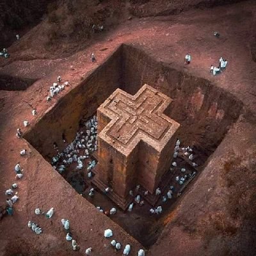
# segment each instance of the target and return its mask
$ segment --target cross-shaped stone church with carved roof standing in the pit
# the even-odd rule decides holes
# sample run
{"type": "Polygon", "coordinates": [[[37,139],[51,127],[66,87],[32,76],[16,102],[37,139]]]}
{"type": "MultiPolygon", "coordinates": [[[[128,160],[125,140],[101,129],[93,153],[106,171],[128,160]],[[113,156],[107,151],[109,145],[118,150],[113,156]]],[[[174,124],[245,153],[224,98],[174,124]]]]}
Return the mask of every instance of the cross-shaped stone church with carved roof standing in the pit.
{"type": "Polygon", "coordinates": [[[145,84],[117,89],[98,109],[97,179],[125,198],[137,184],[154,193],[170,167],[179,124],[164,115],[172,99],[145,84]]]}

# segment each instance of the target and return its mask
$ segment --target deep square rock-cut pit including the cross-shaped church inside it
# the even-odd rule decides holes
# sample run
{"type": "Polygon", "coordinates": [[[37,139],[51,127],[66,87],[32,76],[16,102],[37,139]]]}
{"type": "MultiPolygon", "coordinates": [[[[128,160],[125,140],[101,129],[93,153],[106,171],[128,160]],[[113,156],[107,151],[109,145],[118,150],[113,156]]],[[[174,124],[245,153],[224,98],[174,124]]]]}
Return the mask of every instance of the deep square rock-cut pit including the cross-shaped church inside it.
{"type": "Polygon", "coordinates": [[[122,45],[46,113],[24,138],[56,168],[52,172],[59,172],[85,200],[102,209],[149,248],[161,234],[164,220],[176,201],[182,200],[180,195],[187,184],[193,186],[193,179],[204,172],[207,160],[230,125],[236,122],[241,109],[239,100],[209,81],[164,67],[145,52],[122,45]],[[142,69],[147,72],[141,74],[142,69]],[[159,79],[164,81],[161,86],[156,83],[159,79]],[[95,121],[97,133],[86,134],[95,127],[91,126],[95,121]],[[94,136],[91,141],[90,136],[94,136]],[[88,158],[84,159],[81,170],[77,170],[74,161],[60,172],[62,160],[69,157],[58,156],[58,152],[63,152],[74,140],[74,149],[79,149],[77,157],[88,158]],[[81,140],[84,143],[79,148],[77,141],[81,140]],[[173,158],[177,140],[178,156],[173,158]],[[188,147],[191,152],[182,151],[188,147]],[[188,159],[191,154],[193,161],[188,159]],[[56,157],[60,161],[55,163],[56,157]],[[176,177],[186,178],[180,182],[176,177]],[[170,186],[174,187],[173,198],[163,202],[170,186]],[[92,188],[97,191],[93,197],[89,196],[92,188]],[[106,188],[111,189],[107,195],[106,188]],[[156,195],[157,188],[161,195],[156,195]],[[146,191],[148,195],[144,195],[146,191]],[[138,195],[144,202],[142,206],[134,202],[138,195]],[[131,204],[134,209],[129,212],[131,204]],[[159,205],[166,211],[150,214],[150,209],[159,205]],[[118,214],[107,213],[112,207],[116,207],[118,214]]]}

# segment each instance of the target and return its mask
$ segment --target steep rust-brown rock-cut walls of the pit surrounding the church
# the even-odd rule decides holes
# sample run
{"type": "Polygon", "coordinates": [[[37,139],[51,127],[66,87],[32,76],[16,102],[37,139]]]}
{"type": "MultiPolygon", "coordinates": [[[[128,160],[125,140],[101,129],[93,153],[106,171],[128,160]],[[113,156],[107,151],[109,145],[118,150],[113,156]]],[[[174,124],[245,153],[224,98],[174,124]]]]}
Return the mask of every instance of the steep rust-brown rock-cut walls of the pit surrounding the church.
{"type": "MultiPolygon", "coordinates": [[[[63,143],[63,136],[68,143],[73,141],[79,131],[80,121],[96,113],[100,104],[116,88],[134,94],[145,83],[173,99],[165,114],[181,124],[179,138],[182,145],[193,146],[198,155],[196,161],[200,164],[199,170],[202,170],[208,157],[236,122],[243,104],[209,81],[158,63],[145,52],[129,45],[121,45],[103,65],[62,97],[53,109],[24,134],[24,138],[51,163],[52,157],[56,155],[53,143],[58,144],[60,151],[63,150],[67,146],[63,143]]],[[[81,193],[84,175],[77,176],[77,190],[81,193]]],[[[190,186],[193,186],[191,183],[190,186]]],[[[83,186],[84,191],[87,188],[83,186]]],[[[86,195],[84,197],[92,204],[100,205],[103,209],[110,209],[114,205],[101,193],[96,193],[93,199],[86,195]]],[[[111,219],[148,248],[156,242],[164,225],[168,223],[168,215],[179,200],[173,202],[166,203],[165,211],[159,216],[151,216],[148,212],[150,205],[145,205],[127,213],[119,210],[111,219]]]]}

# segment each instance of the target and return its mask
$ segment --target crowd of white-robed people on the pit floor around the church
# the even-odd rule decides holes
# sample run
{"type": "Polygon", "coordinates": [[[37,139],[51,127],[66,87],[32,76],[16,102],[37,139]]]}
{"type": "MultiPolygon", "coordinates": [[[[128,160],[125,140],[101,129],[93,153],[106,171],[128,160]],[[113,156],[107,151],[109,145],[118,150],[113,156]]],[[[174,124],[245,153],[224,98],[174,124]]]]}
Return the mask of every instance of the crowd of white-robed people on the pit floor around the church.
{"type": "MultiPolygon", "coordinates": [[[[89,118],[86,120],[86,122],[83,123],[85,129],[82,131],[80,130],[76,134],[76,138],[72,143],[68,144],[67,147],[63,150],[63,152],[58,152],[58,154],[54,157],[52,157],[52,166],[54,169],[56,169],[58,172],[63,173],[67,166],[69,166],[72,163],[76,163],[76,169],[81,170],[84,168],[84,159],[88,159],[90,157],[90,154],[92,152],[97,150],[97,116],[92,116],[92,118],[89,118]]],[[[64,141],[65,142],[65,141],[64,141]]],[[[177,140],[176,147],[175,147],[175,152],[173,154],[173,158],[177,157],[178,151],[180,149],[180,141],[177,140]]],[[[58,145],[54,143],[54,148],[58,151],[58,145]]],[[[189,160],[193,160],[193,149],[191,147],[187,148],[182,148],[182,151],[184,151],[184,155],[188,156],[189,160]],[[189,154],[188,154],[189,152],[189,154]]],[[[175,163],[175,162],[173,162],[175,163]]],[[[194,166],[195,163],[193,163],[194,166]]],[[[87,172],[88,172],[88,177],[92,177],[92,169],[95,167],[96,162],[95,161],[89,161],[88,166],[87,166],[87,172]]],[[[196,166],[197,164],[195,164],[196,166]]],[[[176,164],[177,166],[177,164],[176,164]]],[[[183,176],[179,177],[179,185],[182,185],[185,180],[189,177],[189,173],[186,174],[186,169],[181,168],[183,176]]],[[[134,192],[131,190],[129,194],[131,196],[134,196],[134,202],[129,205],[128,211],[132,211],[134,207],[134,203],[138,204],[140,206],[144,205],[144,200],[141,199],[141,196],[139,195],[139,189],[140,185],[136,186],[136,196],[134,196],[134,192]]],[[[167,200],[170,200],[173,196],[173,190],[174,187],[170,186],[170,189],[168,189],[166,195],[162,196],[162,202],[166,202],[167,200]]],[[[108,194],[111,188],[106,188],[105,193],[108,194]]],[[[95,189],[91,188],[90,191],[88,192],[88,195],[90,198],[94,196],[95,189]]],[[[143,195],[147,196],[148,191],[143,191],[143,195]]],[[[157,188],[156,189],[156,196],[161,195],[161,189],[157,188]]],[[[103,211],[103,209],[100,206],[97,206],[97,209],[99,209],[100,212],[104,212],[106,215],[112,215],[116,213],[116,209],[112,208],[110,211],[103,211]]],[[[161,214],[163,212],[163,208],[161,205],[158,205],[156,209],[150,209],[150,214],[161,214]]]]}

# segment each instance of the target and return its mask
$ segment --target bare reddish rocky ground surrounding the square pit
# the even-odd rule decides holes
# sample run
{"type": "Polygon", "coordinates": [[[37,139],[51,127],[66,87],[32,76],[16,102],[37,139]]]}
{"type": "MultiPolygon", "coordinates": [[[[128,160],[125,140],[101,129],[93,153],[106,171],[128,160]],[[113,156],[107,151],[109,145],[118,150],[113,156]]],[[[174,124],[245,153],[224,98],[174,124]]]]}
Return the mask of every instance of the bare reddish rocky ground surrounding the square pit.
{"type": "Polygon", "coordinates": [[[56,54],[48,51],[44,22],[15,42],[9,48],[11,58],[0,60],[0,76],[37,81],[25,91],[0,93],[1,202],[6,200],[4,191],[15,181],[15,164],[20,162],[24,168],[24,177],[18,181],[20,199],[14,206],[14,214],[0,221],[0,255],[84,255],[88,247],[93,248],[92,255],[121,255],[104,238],[106,228],[113,230],[113,239],[123,246],[131,244],[131,255],[137,255],[143,248],[78,195],[26,140],[15,136],[17,127],[23,131],[32,129],[66,93],[76,88],[81,77],[91,74],[120,44],[138,47],[156,61],[204,78],[243,102],[236,123],[230,126],[200,176],[164,220],[163,232],[146,255],[256,255],[256,63],[252,47],[255,11],[255,1],[243,1],[178,15],[133,17],[102,33],[102,37],[98,34],[97,40],[78,52],[73,46],[74,54],[70,54],[72,47],[65,52],[67,44],[61,41],[60,51],[56,54]],[[220,31],[220,38],[213,36],[216,30],[220,31]],[[90,61],[92,52],[96,63],[90,61]],[[187,52],[192,61],[185,66],[187,52]],[[218,65],[220,56],[227,58],[228,67],[214,77],[209,67],[218,65]],[[49,86],[58,75],[71,85],[46,102],[49,86]],[[31,115],[32,107],[38,112],[35,117],[31,115]],[[30,127],[22,126],[24,120],[29,120],[30,127]],[[20,157],[22,148],[28,150],[28,156],[20,157]],[[56,212],[46,220],[35,215],[36,207],[44,211],[54,207],[56,212]],[[79,252],[73,252],[65,240],[61,218],[70,220],[72,234],[81,247],[79,252]],[[44,232],[36,235],[29,230],[29,220],[36,221],[44,232]]]}

